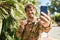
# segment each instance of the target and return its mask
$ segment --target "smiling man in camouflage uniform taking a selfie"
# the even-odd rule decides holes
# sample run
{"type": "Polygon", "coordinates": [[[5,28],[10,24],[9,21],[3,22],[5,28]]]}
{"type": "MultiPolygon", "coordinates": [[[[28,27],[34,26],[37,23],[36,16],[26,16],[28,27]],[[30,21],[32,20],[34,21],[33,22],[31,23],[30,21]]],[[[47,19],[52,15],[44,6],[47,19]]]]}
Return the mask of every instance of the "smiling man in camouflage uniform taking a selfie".
{"type": "Polygon", "coordinates": [[[22,20],[16,34],[21,40],[38,40],[40,33],[50,30],[50,13],[46,15],[42,12],[42,15],[36,18],[36,9],[32,4],[26,5],[25,12],[28,19],[22,20]]]}

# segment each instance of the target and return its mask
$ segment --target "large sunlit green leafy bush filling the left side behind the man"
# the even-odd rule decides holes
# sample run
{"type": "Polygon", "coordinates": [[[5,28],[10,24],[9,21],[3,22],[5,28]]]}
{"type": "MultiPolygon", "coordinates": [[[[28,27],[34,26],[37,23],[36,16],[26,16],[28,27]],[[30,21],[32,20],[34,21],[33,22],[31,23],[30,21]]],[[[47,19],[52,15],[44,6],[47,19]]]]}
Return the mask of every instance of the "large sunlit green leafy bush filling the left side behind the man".
{"type": "Polygon", "coordinates": [[[20,20],[27,18],[24,7],[28,3],[38,4],[37,0],[0,0],[0,40],[20,39],[16,31],[20,20]]]}

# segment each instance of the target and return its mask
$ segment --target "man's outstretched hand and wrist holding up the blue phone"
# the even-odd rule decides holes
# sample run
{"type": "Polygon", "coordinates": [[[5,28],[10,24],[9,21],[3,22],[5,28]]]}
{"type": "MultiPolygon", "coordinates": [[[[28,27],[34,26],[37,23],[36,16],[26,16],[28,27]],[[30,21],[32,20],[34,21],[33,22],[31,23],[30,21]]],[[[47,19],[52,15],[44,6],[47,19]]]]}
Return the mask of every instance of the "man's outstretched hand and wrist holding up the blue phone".
{"type": "Polygon", "coordinates": [[[44,32],[49,32],[50,28],[50,22],[51,22],[51,18],[50,18],[50,12],[48,11],[48,14],[46,15],[45,13],[41,13],[42,15],[40,15],[40,21],[39,23],[42,25],[43,31],[44,32]]]}

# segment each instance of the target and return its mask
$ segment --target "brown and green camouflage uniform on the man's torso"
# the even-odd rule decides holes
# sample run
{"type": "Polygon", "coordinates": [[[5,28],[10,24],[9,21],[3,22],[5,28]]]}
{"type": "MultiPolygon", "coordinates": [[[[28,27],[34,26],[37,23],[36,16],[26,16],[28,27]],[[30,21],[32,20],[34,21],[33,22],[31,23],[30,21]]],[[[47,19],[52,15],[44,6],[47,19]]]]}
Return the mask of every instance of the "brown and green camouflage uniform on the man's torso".
{"type": "Polygon", "coordinates": [[[31,23],[27,21],[24,30],[22,28],[19,29],[21,40],[38,40],[42,31],[43,27],[37,20],[31,23]]]}

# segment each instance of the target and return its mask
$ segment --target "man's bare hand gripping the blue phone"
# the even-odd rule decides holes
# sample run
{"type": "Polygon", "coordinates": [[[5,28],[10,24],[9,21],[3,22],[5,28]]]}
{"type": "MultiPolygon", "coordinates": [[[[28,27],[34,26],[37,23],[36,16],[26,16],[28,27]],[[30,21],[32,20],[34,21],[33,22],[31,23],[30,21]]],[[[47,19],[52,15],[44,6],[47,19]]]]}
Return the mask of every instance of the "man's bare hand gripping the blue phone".
{"type": "Polygon", "coordinates": [[[51,21],[50,12],[48,11],[47,15],[45,13],[43,13],[43,12],[41,14],[42,15],[40,16],[40,24],[43,27],[48,27],[50,25],[50,21],[51,21]]]}

